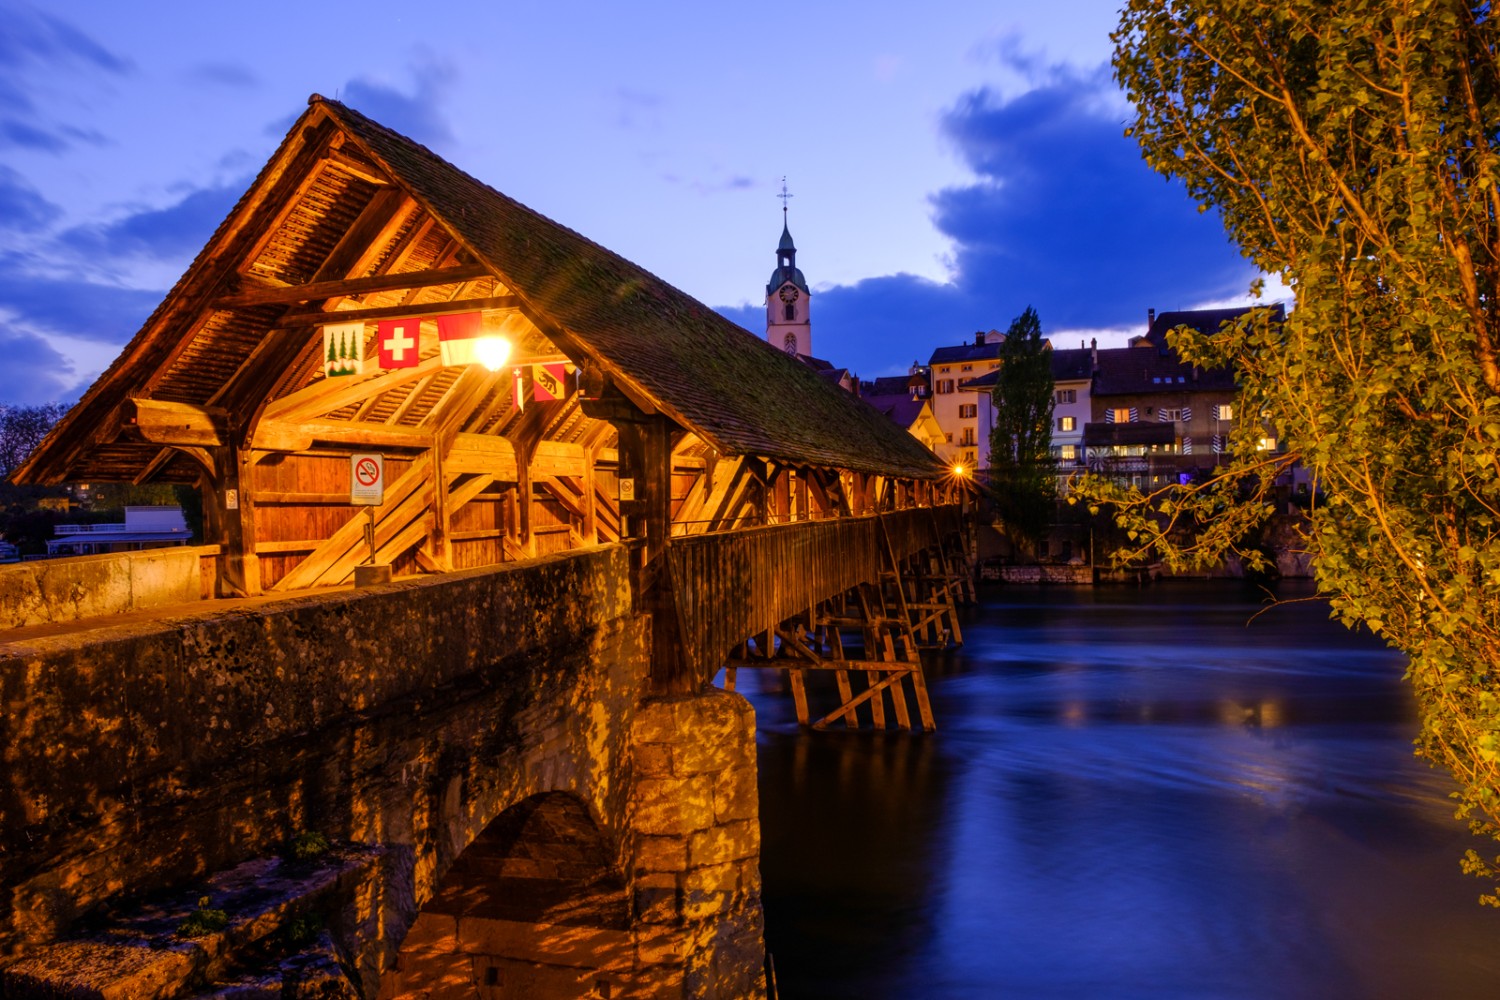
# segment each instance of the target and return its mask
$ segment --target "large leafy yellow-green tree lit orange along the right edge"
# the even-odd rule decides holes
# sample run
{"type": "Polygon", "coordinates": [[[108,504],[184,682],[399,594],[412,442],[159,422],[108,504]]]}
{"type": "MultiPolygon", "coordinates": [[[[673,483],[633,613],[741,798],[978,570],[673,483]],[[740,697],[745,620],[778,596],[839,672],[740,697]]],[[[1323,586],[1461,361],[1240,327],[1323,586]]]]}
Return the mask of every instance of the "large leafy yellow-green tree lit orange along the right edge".
{"type": "MultiPolygon", "coordinates": [[[[1326,502],[1306,544],[1320,588],[1346,624],[1407,652],[1418,751],[1458,780],[1460,816],[1500,835],[1491,4],[1128,0],[1120,18],[1114,70],[1146,160],[1296,295],[1284,324],[1258,310],[1216,334],[1178,331],[1173,345],[1234,364],[1239,412],[1263,414],[1317,477],[1326,502]]],[[[1208,493],[1161,493],[1154,511],[1122,519],[1143,543],[1215,502],[1252,522],[1263,504],[1234,493],[1278,466],[1257,456],[1257,435],[1254,420],[1236,427],[1236,463],[1208,493]]],[[[1500,877],[1500,859],[1470,852],[1466,867],[1500,877]]]]}

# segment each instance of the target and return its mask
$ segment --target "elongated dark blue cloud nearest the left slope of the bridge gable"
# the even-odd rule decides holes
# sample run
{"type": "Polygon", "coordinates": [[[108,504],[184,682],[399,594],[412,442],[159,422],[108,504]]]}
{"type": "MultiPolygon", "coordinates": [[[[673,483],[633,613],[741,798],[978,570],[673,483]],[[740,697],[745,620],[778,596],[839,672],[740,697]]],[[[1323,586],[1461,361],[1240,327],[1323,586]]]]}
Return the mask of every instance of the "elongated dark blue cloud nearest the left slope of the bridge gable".
{"type": "Polygon", "coordinates": [[[190,258],[230,214],[249,180],[201,187],[165,208],[141,208],[108,223],[88,223],[57,237],[62,246],[96,258],[190,258]]]}

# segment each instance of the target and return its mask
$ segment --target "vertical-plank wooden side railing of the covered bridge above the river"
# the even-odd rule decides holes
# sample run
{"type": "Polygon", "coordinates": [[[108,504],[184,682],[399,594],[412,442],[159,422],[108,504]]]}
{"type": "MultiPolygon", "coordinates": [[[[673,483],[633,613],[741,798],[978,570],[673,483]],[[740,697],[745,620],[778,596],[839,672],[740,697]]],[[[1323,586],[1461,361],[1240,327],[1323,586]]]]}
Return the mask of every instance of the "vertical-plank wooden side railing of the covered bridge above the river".
{"type": "Polygon", "coordinates": [[[921,507],[672,538],[666,556],[690,670],[711,678],[736,643],[879,580],[886,558],[930,549],[958,523],[957,505],[921,507]]]}

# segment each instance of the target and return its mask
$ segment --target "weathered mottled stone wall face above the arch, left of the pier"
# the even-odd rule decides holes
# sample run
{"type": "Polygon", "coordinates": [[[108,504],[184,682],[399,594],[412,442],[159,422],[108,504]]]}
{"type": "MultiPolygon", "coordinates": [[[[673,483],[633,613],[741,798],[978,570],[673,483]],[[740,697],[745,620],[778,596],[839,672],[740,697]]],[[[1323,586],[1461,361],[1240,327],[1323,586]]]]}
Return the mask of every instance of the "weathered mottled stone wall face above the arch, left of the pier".
{"type": "Polygon", "coordinates": [[[88,634],[0,640],[0,964],[120,895],[314,829],[381,844],[351,957],[380,969],[508,805],[578,796],[624,840],[648,667],[627,553],[88,634]]]}

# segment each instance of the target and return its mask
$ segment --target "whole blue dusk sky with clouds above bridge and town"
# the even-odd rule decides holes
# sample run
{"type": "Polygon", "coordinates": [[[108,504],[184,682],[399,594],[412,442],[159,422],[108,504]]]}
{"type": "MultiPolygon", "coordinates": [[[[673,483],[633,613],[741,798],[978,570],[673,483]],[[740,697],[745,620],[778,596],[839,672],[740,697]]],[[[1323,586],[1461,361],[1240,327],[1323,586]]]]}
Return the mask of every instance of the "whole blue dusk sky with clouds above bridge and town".
{"type": "Polygon", "coordinates": [[[862,378],[1000,328],[1118,345],[1245,301],[1124,138],[1118,0],[0,0],[0,403],[72,402],[310,93],[756,333],[792,192],[813,352],[862,378]]]}

